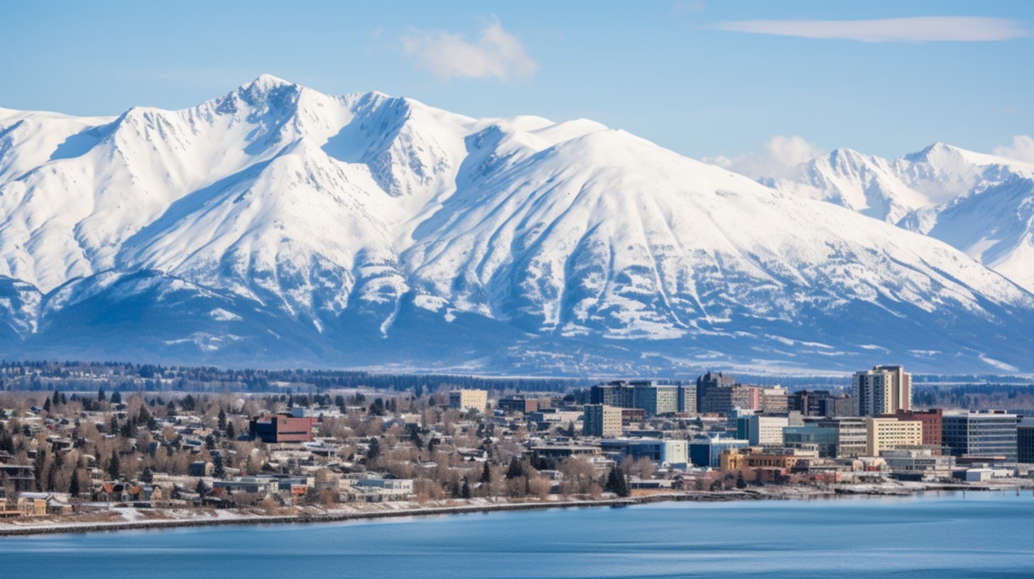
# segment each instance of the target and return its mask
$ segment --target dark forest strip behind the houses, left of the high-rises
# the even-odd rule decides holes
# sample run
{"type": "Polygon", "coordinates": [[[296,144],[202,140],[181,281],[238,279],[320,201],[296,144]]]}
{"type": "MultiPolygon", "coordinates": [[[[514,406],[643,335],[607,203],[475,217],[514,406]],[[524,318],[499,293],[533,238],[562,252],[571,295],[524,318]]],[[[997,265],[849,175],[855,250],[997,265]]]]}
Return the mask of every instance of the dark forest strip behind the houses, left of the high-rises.
{"type": "Polygon", "coordinates": [[[226,369],[122,362],[0,361],[0,390],[122,392],[324,392],[368,388],[413,392],[417,396],[455,388],[496,393],[564,392],[584,380],[568,378],[491,378],[451,374],[382,374],[308,369],[226,369]]]}

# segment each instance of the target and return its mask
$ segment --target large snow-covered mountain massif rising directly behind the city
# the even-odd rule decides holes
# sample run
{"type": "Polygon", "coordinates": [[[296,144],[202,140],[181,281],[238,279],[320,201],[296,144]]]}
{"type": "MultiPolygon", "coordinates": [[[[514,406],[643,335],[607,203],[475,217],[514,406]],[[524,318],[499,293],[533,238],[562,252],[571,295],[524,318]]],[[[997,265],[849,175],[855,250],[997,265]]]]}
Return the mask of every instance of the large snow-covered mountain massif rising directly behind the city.
{"type": "MultiPolygon", "coordinates": [[[[909,190],[888,211],[939,194],[909,190]]],[[[587,120],[272,77],[175,112],[0,110],[0,306],[8,357],[1034,369],[1034,296],[931,237],[587,120]]]]}

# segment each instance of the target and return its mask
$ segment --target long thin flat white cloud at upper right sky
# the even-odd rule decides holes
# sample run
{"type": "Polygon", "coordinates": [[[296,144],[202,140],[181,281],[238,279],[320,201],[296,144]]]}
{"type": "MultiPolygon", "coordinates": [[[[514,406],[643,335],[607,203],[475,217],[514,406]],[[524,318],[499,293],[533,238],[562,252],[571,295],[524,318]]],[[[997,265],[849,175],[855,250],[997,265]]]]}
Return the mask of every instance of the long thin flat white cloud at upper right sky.
{"type": "Polygon", "coordinates": [[[751,20],[719,22],[719,30],[860,40],[862,42],[993,41],[1031,36],[1026,23],[986,17],[914,17],[882,20],[751,20]]]}

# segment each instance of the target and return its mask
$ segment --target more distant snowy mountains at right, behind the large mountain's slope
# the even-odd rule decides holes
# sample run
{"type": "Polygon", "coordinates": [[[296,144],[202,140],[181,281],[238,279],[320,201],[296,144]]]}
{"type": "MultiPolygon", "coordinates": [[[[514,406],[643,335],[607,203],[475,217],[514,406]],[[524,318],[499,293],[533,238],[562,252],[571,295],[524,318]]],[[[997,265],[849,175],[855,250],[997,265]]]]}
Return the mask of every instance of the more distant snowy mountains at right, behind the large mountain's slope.
{"type": "Polygon", "coordinates": [[[1034,292],[1034,164],[942,143],[893,160],[838,149],[762,182],[940,239],[1034,292]]]}

